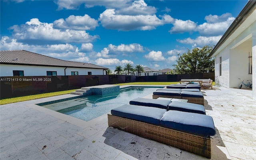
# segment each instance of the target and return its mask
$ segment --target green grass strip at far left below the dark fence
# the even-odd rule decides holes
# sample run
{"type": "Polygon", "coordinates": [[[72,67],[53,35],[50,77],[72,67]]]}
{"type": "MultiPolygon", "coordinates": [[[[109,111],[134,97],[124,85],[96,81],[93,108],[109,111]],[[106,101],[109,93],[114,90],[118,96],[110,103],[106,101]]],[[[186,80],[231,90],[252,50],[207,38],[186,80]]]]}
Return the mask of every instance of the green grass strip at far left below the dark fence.
{"type": "Polygon", "coordinates": [[[42,94],[35,94],[35,95],[30,95],[30,96],[6,98],[6,99],[0,100],[0,105],[15,103],[15,102],[22,102],[22,101],[26,101],[26,100],[35,100],[35,99],[39,99],[39,98],[46,98],[46,97],[52,97],[52,96],[59,96],[62,94],[70,94],[70,92],[74,92],[74,91],[75,90],[64,90],[64,91],[59,91],[59,92],[42,93],[42,94]]]}

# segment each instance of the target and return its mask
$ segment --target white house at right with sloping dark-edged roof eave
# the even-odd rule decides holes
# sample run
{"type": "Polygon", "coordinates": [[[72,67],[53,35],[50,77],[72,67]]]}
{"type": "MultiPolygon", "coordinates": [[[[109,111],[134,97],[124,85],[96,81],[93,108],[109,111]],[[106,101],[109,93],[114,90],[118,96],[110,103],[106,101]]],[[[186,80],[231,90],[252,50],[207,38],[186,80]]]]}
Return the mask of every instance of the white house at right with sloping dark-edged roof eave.
{"type": "Polygon", "coordinates": [[[252,81],[256,100],[256,1],[249,0],[210,53],[215,58],[215,82],[238,88],[252,81]]]}

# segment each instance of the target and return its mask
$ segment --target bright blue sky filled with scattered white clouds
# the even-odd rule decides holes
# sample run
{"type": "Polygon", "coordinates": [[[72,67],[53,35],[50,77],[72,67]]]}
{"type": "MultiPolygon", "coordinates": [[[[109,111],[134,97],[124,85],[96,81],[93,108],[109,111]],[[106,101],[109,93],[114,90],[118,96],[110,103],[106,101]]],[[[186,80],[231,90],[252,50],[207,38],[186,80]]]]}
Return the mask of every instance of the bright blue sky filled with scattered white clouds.
{"type": "Polygon", "coordinates": [[[1,0],[0,49],[108,67],[173,68],[216,45],[247,0],[1,0]]]}

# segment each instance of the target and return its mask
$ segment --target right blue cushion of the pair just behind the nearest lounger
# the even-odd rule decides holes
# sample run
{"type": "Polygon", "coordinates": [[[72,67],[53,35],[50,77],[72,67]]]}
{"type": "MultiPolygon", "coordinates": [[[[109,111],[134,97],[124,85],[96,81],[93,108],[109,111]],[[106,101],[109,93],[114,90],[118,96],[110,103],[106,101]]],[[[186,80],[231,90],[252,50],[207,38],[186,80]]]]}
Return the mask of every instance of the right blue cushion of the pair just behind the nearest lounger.
{"type": "Polygon", "coordinates": [[[179,102],[179,101],[171,102],[168,105],[168,110],[179,110],[179,111],[183,111],[183,112],[206,114],[203,105],[187,103],[187,102],[179,102]]]}

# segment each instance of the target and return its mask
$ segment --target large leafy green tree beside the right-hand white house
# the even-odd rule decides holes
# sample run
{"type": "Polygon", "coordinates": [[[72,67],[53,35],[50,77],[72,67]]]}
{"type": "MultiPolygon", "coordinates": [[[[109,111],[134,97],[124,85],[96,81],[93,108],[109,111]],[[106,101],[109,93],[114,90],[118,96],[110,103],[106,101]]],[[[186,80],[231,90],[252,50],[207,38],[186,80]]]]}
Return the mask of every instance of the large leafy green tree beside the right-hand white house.
{"type": "Polygon", "coordinates": [[[178,54],[177,64],[174,64],[176,74],[206,73],[214,71],[214,59],[209,57],[213,46],[203,46],[178,54]]]}

